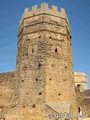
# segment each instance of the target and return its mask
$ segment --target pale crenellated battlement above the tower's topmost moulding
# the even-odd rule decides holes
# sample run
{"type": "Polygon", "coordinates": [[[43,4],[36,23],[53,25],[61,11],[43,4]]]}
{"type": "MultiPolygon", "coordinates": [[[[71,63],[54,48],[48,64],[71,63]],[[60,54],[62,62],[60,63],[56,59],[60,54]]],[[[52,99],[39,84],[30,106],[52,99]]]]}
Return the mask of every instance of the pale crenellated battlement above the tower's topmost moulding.
{"type": "Polygon", "coordinates": [[[58,7],[54,6],[54,5],[52,5],[51,8],[49,8],[47,3],[41,3],[40,7],[38,7],[37,5],[34,5],[34,6],[32,6],[31,10],[29,8],[26,8],[24,10],[22,18],[20,20],[20,25],[21,25],[24,18],[37,16],[39,14],[49,14],[52,16],[64,18],[68,21],[66,12],[63,8],[58,10],[58,7]]]}

